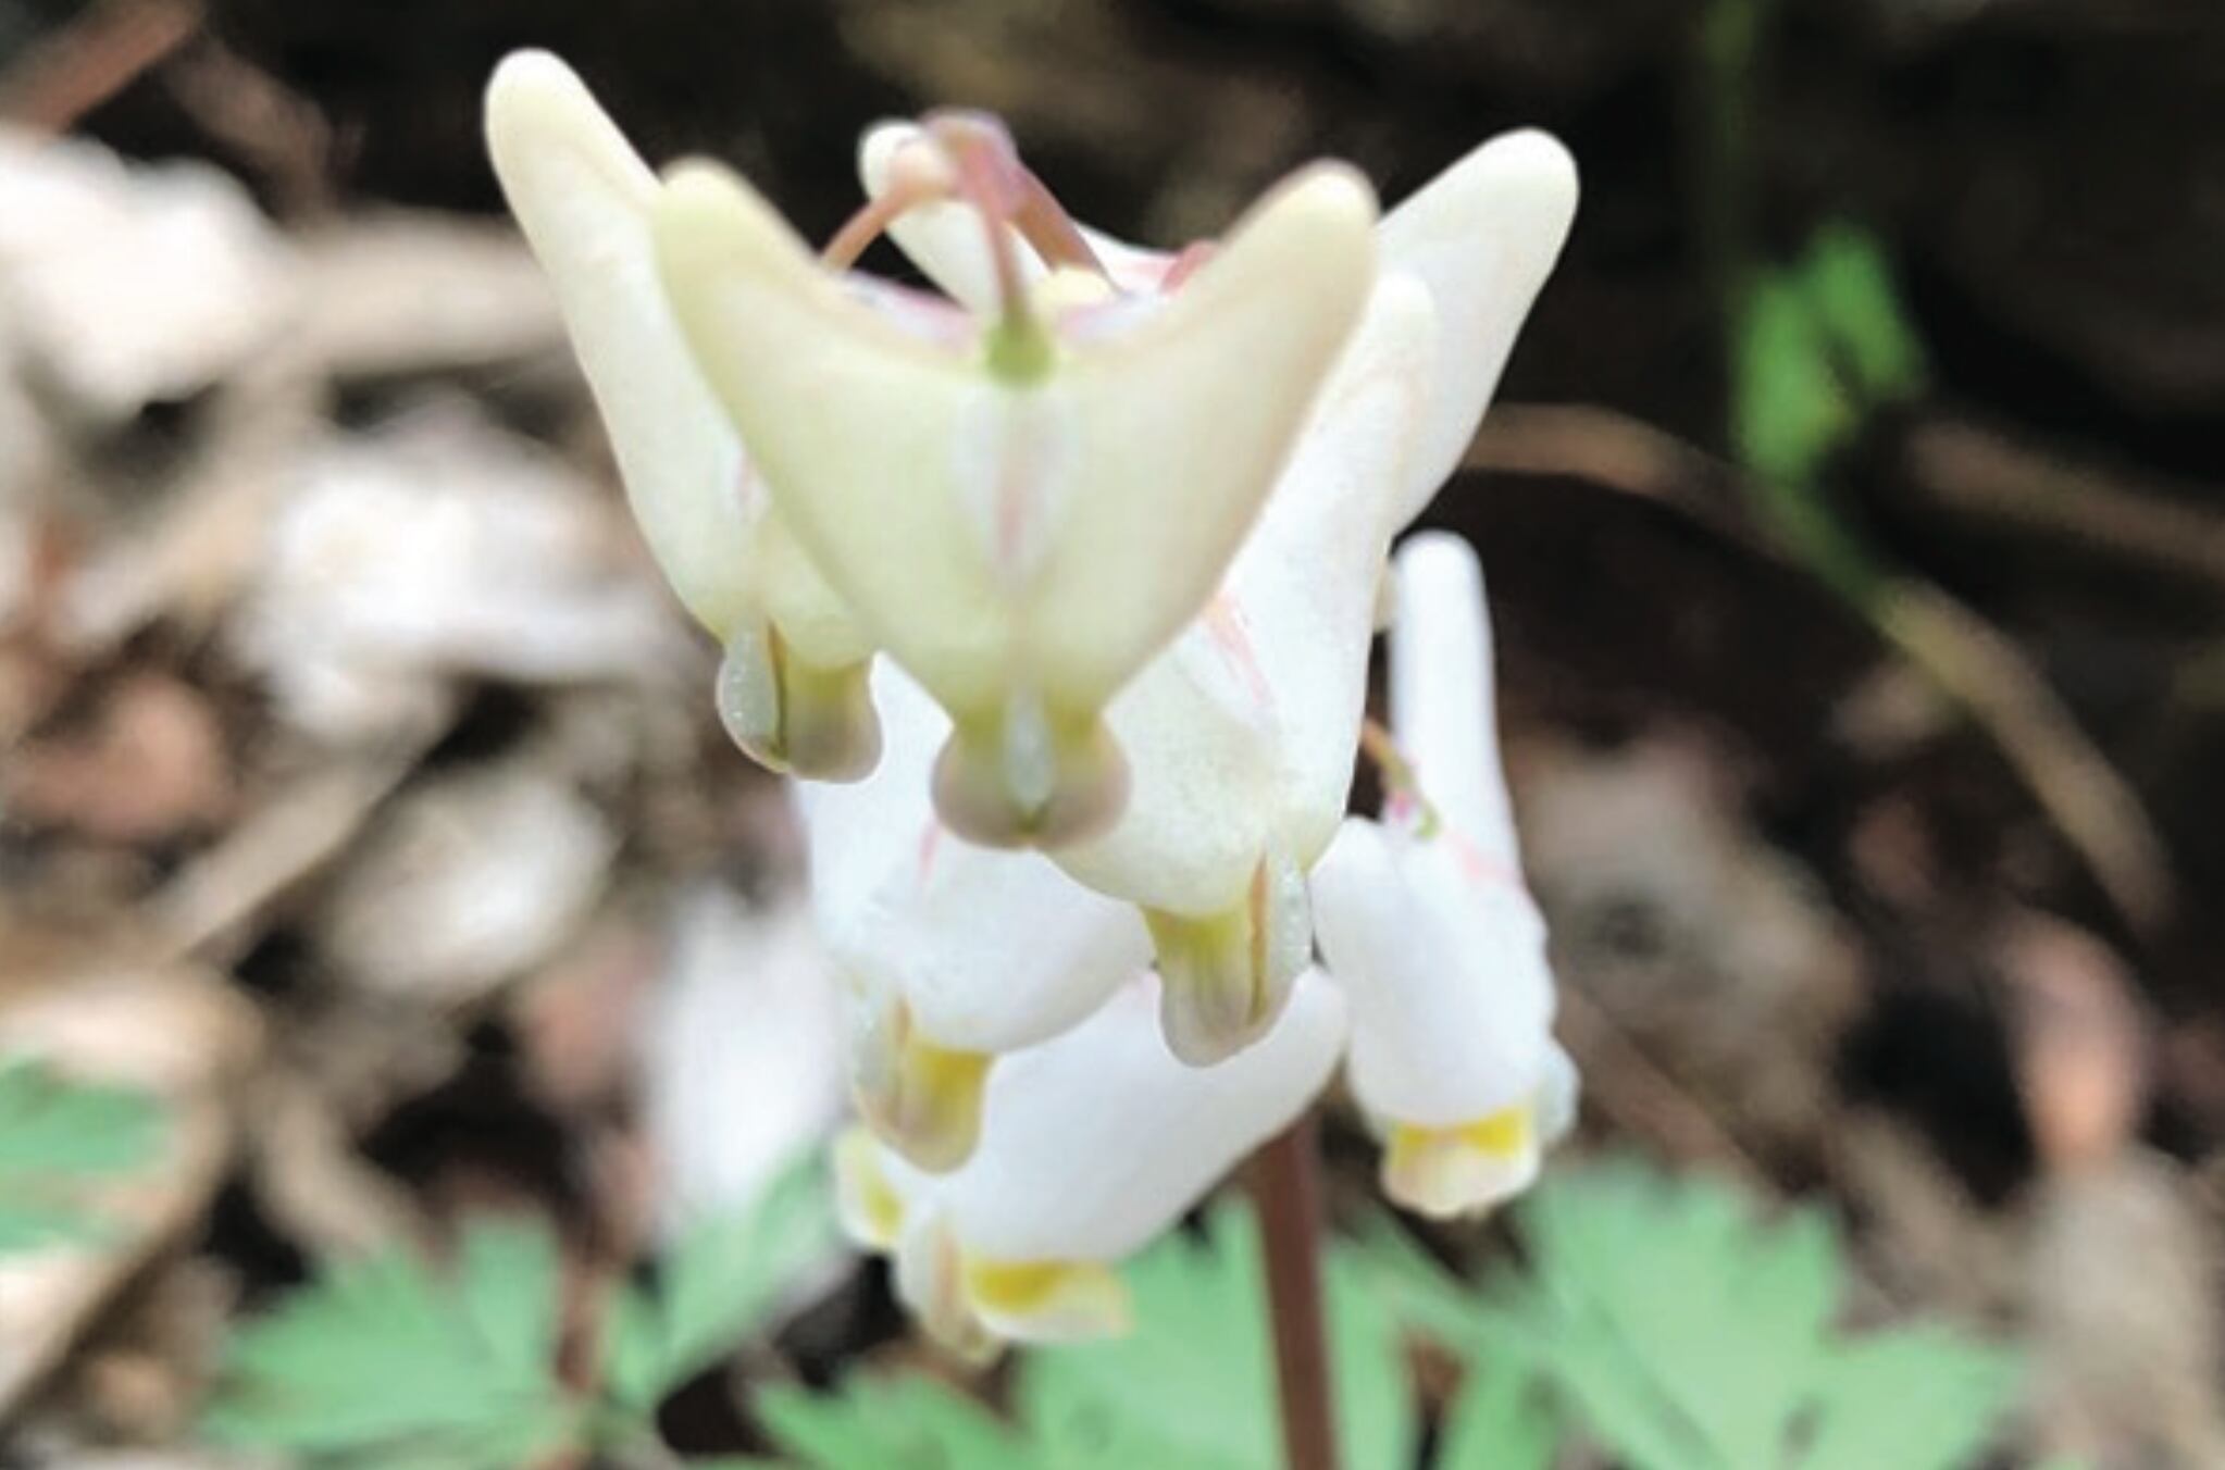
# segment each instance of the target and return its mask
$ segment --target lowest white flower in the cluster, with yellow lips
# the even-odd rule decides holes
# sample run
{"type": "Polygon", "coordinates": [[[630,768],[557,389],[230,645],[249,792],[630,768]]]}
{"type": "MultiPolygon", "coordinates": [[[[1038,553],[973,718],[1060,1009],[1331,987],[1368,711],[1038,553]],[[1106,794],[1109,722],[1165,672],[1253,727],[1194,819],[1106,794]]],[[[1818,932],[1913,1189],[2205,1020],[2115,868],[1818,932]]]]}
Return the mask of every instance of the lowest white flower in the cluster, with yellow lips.
{"type": "Polygon", "coordinates": [[[839,1145],[843,1223],[894,1257],[897,1294],[941,1341],[986,1354],[1121,1330],[1112,1263],[1288,1125],[1344,1045],[1344,1005],[1308,974],[1257,1045],[1190,1067],[1159,1036],[1153,990],[1144,976],[1006,1059],[981,1145],[952,1174],[921,1174],[866,1134],[839,1145]]]}

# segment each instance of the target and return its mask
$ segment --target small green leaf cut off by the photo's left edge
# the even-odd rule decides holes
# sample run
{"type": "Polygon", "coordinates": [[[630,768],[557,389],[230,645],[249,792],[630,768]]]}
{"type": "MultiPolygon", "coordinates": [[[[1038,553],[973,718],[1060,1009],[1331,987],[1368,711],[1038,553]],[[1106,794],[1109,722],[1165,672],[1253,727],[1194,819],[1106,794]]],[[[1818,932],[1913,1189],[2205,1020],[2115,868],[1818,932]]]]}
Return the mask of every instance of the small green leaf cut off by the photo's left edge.
{"type": "Polygon", "coordinates": [[[87,1185],[149,1165],[162,1148],[151,1096],[0,1061],[0,1254],[100,1236],[87,1185]]]}

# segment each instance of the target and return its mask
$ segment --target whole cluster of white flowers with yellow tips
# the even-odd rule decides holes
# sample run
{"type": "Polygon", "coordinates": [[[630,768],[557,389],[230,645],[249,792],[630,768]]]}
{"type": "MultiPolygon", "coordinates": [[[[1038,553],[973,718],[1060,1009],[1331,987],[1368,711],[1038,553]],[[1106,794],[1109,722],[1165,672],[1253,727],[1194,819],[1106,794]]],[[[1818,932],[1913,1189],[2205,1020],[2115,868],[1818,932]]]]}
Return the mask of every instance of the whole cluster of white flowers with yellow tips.
{"type": "Polygon", "coordinates": [[[1115,1328],[1110,1263],[1339,1061],[1393,1199],[1522,1190],[1575,1079],[1482,578],[1451,536],[1388,554],[1569,231],[1566,151],[1497,138],[1382,220],[1315,165],[1155,254],[934,113],[866,136],[814,254],[725,169],[652,173],[545,53],[487,133],[725,725],[799,778],[870,1125],[846,1216],[919,1317],[1115,1328]],[[879,234],[946,296],[848,269],[879,234]],[[1386,805],[1346,821],[1386,605],[1386,805]]]}

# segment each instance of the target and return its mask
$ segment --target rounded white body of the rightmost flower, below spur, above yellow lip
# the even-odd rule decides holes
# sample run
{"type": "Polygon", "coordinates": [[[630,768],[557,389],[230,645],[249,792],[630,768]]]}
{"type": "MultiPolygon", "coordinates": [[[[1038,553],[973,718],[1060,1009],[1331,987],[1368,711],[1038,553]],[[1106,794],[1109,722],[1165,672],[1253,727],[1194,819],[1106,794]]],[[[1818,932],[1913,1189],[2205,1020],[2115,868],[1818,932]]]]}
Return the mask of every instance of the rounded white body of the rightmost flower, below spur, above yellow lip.
{"type": "Polygon", "coordinates": [[[1451,830],[1424,841],[1353,818],[1313,870],[1313,923],[1351,1005],[1364,1108],[1455,1128],[1537,1092],[1553,974],[1517,874],[1451,830]]]}

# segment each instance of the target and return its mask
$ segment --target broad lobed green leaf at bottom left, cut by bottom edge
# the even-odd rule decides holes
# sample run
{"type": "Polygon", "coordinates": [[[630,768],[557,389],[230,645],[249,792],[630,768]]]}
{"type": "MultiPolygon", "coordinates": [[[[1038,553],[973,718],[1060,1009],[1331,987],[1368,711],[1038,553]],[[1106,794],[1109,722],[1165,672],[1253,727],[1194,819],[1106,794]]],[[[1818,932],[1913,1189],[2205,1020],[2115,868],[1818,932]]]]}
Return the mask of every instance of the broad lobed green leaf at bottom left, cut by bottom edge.
{"type": "Polygon", "coordinates": [[[243,1328],[202,1430],[327,1470],[514,1470],[578,1441],[556,1381],[556,1245],[476,1221],[452,1272],[403,1250],[325,1270],[243,1328]]]}

